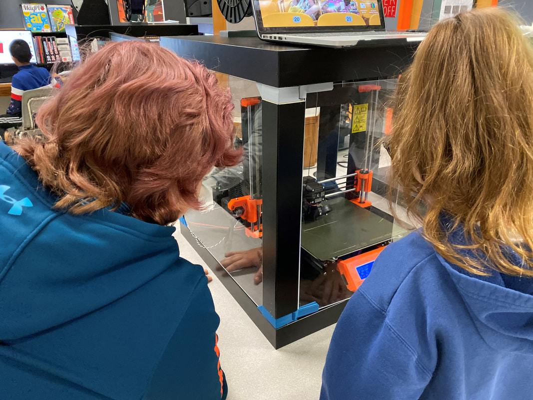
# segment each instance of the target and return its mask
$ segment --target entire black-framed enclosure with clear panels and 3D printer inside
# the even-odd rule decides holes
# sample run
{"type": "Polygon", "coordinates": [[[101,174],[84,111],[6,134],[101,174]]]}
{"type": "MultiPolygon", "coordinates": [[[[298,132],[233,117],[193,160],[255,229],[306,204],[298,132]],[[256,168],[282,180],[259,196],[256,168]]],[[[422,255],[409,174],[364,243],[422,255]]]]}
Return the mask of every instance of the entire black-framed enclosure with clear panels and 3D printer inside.
{"type": "Polygon", "coordinates": [[[335,323],[376,253],[405,234],[385,200],[390,158],[379,139],[390,77],[417,44],[162,37],[161,46],[203,60],[229,87],[246,155],[205,179],[205,207],[185,214],[183,236],[274,347],[335,323]],[[250,98],[261,100],[241,104],[250,98]]]}

